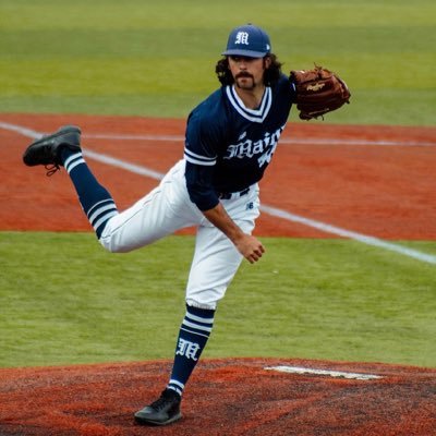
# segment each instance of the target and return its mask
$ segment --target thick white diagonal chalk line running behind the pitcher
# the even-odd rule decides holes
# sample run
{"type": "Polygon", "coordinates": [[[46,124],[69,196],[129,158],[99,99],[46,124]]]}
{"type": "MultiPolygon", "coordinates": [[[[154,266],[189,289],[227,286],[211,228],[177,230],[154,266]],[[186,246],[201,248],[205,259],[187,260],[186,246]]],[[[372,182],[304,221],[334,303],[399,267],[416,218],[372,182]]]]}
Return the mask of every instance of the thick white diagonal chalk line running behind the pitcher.
{"type": "MultiPolygon", "coordinates": [[[[20,135],[31,137],[33,140],[40,137],[43,134],[41,132],[36,132],[32,129],[27,129],[24,126],[7,123],[7,122],[2,122],[2,121],[0,121],[0,129],[12,131],[12,132],[19,133],[20,135]]],[[[118,158],[114,158],[114,157],[111,157],[111,156],[108,156],[108,155],[105,155],[101,153],[96,153],[88,148],[83,148],[83,153],[86,157],[88,157],[90,159],[94,159],[101,164],[110,165],[110,166],[130,171],[135,174],[149,177],[155,180],[161,180],[164,177],[164,173],[155,171],[147,167],[131,164],[131,162],[128,162],[128,161],[124,161],[124,160],[121,160],[121,159],[118,159],[118,158]]],[[[289,211],[279,209],[274,206],[263,205],[263,206],[261,206],[261,209],[263,213],[274,216],[276,218],[284,219],[284,220],[292,221],[292,222],[298,222],[298,223],[317,229],[324,233],[329,233],[329,234],[335,234],[337,237],[351,239],[351,240],[361,242],[366,245],[388,250],[388,251],[391,251],[397,254],[402,254],[404,256],[412,257],[420,262],[436,265],[436,255],[423,253],[417,250],[409,249],[409,247],[405,247],[405,246],[402,246],[399,244],[395,244],[391,242],[386,242],[386,241],[380,240],[375,237],[346,230],[340,227],[331,226],[331,225],[328,225],[328,223],[325,223],[322,221],[317,221],[317,220],[314,220],[311,218],[305,218],[300,215],[291,214],[289,211]]]]}

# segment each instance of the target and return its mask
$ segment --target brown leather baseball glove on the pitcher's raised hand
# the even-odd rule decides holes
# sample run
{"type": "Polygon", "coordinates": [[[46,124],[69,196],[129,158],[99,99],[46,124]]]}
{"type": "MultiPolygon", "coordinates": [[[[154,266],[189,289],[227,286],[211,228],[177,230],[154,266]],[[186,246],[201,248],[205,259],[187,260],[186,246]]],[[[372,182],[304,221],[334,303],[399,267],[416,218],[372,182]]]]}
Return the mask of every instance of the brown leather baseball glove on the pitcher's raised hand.
{"type": "Polygon", "coordinates": [[[290,80],[295,84],[296,109],[302,120],[323,117],[350,102],[346,82],[323,66],[291,71],[290,80]]]}

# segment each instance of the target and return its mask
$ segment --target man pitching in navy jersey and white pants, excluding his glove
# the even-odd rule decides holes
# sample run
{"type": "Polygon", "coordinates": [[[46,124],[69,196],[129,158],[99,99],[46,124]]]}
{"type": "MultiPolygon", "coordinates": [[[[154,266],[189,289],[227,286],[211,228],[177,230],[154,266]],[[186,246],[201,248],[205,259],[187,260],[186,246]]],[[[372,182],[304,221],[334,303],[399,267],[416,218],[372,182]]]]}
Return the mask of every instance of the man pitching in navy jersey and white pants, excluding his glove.
{"type": "Polygon", "coordinates": [[[25,150],[27,166],[64,167],[101,245],[121,253],[196,226],[195,253],[186,284],[186,312],[172,372],[160,398],[137,411],[140,424],[179,420],[186,383],[213,330],[218,302],[241,261],[264,254],[252,235],[259,215],[263,178],[287,123],[295,85],[281,73],[268,35],[255,25],[234,28],[216,65],[221,86],[189,116],[184,158],[160,184],[124,211],[89,170],[81,130],[61,128],[25,150]]]}

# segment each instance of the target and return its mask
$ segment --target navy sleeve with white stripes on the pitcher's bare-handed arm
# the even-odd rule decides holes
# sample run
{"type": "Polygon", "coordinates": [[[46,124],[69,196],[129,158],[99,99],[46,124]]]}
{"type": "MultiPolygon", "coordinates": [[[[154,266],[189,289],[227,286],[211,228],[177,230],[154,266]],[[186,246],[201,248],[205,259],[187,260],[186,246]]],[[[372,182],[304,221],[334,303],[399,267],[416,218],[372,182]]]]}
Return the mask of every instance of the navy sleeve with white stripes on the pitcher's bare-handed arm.
{"type": "Polygon", "coordinates": [[[195,111],[191,113],[184,147],[185,179],[190,198],[201,210],[211,209],[219,203],[214,189],[219,143],[219,129],[214,120],[195,111]]]}

